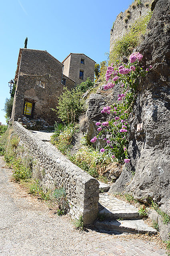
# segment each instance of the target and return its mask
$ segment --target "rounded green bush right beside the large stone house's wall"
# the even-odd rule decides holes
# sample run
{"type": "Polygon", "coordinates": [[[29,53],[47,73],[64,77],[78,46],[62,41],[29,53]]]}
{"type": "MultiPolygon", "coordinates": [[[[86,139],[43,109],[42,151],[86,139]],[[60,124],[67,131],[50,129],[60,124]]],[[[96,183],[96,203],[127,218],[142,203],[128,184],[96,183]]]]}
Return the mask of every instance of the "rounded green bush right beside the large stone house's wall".
{"type": "Polygon", "coordinates": [[[64,92],[60,95],[58,106],[52,109],[56,115],[65,123],[75,123],[78,121],[80,114],[84,112],[84,100],[82,91],[73,88],[71,91],[64,87],[64,92]],[[56,110],[57,109],[57,110],[56,110]]]}

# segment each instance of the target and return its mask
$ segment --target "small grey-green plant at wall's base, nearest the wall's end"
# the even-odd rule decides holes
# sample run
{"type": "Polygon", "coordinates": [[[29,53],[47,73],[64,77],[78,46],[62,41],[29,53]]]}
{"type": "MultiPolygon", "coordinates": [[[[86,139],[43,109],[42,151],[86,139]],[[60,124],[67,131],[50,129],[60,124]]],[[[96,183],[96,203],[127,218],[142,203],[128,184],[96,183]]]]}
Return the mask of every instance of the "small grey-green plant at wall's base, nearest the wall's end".
{"type": "Polygon", "coordinates": [[[68,211],[68,201],[66,199],[66,191],[63,187],[54,190],[54,200],[56,200],[58,209],[57,214],[64,215],[68,211]]]}

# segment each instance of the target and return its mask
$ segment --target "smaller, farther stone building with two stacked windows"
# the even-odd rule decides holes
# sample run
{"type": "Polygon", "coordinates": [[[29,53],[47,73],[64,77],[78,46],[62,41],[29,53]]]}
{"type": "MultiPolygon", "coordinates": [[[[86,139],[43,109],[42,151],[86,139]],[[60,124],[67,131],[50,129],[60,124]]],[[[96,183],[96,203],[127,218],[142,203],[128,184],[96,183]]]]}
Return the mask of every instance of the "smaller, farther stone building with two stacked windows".
{"type": "Polygon", "coordinates": [[[76,85],[90,77],[94,81],[95,61],[82,53],[70,53],[62,62],[64,64],[63,74],[73,79],[76,85]]]}

